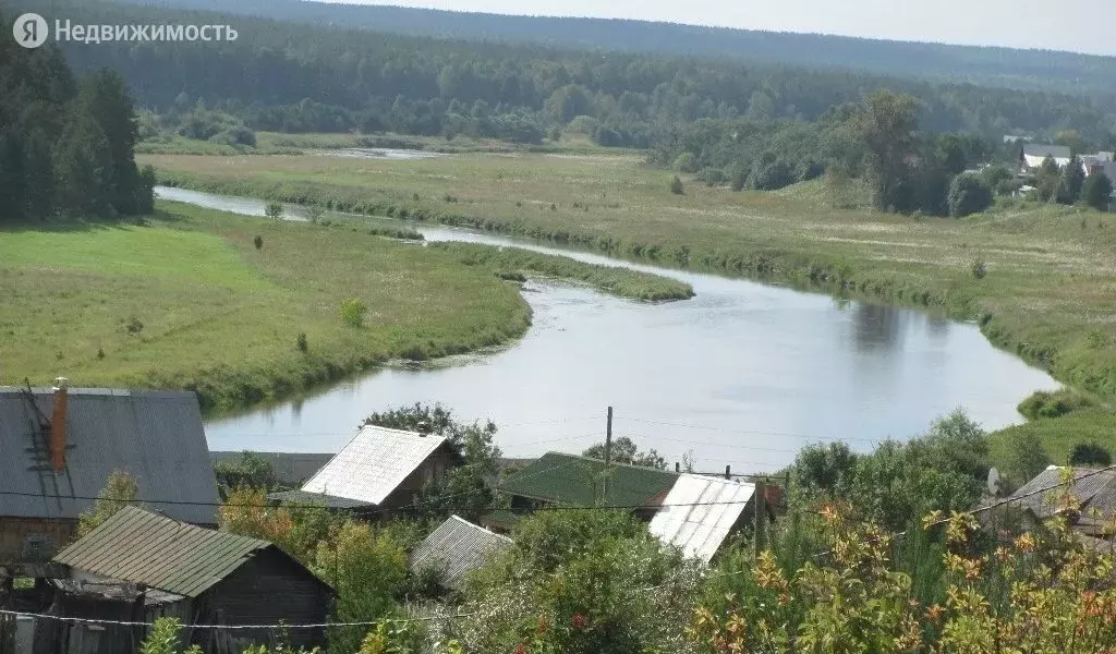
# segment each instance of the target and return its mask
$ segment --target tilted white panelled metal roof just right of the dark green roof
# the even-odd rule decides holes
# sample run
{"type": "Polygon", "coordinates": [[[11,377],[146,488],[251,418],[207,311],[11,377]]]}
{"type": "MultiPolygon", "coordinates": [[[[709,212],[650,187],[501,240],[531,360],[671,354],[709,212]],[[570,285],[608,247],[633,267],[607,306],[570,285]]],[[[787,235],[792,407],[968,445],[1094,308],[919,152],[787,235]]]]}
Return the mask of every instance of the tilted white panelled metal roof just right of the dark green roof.
{"type": "Polygon", "coordinates": [[[663,542],[682,549],[686,557],[709,562],[754,492],[751,483],[683,474],[666,493],[648,529],[663,542]]]}

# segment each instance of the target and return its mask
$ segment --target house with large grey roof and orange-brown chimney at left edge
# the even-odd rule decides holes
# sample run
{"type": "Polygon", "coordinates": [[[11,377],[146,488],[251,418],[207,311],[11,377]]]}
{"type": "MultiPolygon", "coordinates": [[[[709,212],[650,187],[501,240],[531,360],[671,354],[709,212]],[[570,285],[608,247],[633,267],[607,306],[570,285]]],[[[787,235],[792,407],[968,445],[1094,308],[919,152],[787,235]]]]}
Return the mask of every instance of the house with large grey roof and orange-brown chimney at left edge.
{"type": "Polygon", "coordinates": [[[0,568],[35,566],[73,539],[108,477],[127,471],[146,506],[215,526],[220,502],[193,393],[0,387],[0,568]]]}

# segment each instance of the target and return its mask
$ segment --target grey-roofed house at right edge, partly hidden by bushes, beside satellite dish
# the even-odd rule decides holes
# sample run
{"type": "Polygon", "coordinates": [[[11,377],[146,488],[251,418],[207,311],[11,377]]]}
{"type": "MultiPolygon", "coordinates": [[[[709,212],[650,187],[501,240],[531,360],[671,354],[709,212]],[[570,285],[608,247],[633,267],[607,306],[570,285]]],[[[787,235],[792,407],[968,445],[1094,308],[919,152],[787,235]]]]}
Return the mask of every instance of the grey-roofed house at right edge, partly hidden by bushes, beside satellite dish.
{"type": "Polygon", "coordinates": [[[1116,518],[1116,470],[1075,468],[1069,484],[1065,483],[1066,474],[1066,468],[1051,465],[1008,500],[1021,510],[1027,528],[1060,517],[1069,520],[1072,530],[1083,539],[1104,537],[1106,526],[1116,518]],[[1039,492],[1042,489],[1052,490],[1039,492]],[[1060,501],[1067,496],[1076,501],[1075,510],[1067,510],[1060,501]]]}

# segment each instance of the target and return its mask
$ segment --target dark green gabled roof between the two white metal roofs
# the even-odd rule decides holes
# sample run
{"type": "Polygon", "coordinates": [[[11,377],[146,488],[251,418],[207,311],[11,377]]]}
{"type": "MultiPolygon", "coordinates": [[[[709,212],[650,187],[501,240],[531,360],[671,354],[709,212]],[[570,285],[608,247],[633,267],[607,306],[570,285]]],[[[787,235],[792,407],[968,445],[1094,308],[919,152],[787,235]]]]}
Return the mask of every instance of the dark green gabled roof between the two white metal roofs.
{"type": "Polygon", "coordinates": [[[506,493],[547,502],[591,507],[597,503],[623,507],[656,507],[675,480],[676,472],[613,463],[605,488],[605,462],[573,454],[547,452],[507,479],[499,489],[506,493]]]}

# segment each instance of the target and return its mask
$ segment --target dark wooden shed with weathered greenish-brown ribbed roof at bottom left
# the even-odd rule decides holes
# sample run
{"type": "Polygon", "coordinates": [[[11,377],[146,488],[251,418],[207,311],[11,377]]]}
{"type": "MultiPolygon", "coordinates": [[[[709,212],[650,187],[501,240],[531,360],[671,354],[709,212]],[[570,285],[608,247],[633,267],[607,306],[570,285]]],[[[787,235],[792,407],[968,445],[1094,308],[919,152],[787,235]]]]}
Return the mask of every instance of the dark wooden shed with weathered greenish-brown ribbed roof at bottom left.
{"type": "MultiPolygon", "coordinates": [[[[267,540],[179,522],[135,507],[121,509],[58,552],[69,584],[133,584],[144,590],[145,622],[276,625],[326,622],[333,589],[267,540]]],[[[88,617],[74,615],[67,617],[88,617]]],[[[267,643],[273,628],[186,629],[208,652],[267,643]]],[[[292,645],[321,644],[321,629],[290,629],[292,645]]]]}

